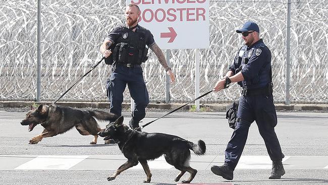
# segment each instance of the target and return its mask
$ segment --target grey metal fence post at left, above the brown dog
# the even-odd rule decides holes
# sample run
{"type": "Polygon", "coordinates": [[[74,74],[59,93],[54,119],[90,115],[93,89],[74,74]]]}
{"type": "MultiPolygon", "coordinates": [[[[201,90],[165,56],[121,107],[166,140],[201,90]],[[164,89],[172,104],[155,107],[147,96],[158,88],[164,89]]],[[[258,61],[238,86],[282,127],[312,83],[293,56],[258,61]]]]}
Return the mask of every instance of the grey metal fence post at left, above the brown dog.
{"type": "Polygon", "coordinates": [[[36,101],[40,102],[40,95],[41,95],[41,0],[37,1],[37,78],[36,78],[36,101]]]}

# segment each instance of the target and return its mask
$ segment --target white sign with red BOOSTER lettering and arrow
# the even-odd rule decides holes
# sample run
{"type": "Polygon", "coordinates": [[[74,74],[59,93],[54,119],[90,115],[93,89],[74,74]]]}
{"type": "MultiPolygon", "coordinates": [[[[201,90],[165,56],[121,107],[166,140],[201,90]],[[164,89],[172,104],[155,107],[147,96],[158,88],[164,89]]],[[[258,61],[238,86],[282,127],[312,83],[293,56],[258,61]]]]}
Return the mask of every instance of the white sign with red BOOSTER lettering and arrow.
{"type": "Polygon", "coordinates": [[[209,0],[127,0],[141,10],[139,25],[149,29],[160,49],[209,46],[209,0]]]}

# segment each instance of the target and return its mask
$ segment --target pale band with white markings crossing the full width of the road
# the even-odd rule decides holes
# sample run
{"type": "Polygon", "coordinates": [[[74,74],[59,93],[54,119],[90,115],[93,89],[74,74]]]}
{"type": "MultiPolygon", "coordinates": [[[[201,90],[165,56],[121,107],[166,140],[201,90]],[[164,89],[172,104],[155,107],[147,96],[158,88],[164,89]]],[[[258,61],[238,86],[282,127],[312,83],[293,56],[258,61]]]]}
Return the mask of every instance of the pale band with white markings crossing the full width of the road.
{"type": "MultiPolygon", "coordinates": [[[[212,165],[222,165],[224,156],[192,156],[190,166],[197,170],[208,170],[212,165]]],[[[48,155],[15,156],[0,155],[0,170],[116,170],[127,159],[123,155],[48,155]]],[[[286,156],[283,159],[285,169],[328,169],[328,156],[286,156]],[[311,159],[307,162],[307,159],[311,159]]],[[[148,161],[150,169],[175,169],[162,156],[148,161]]],[[[142,170],[140,164],[131,168],[142,170]]],[[[242,156],[238,169],[271,169],[268,156],[242,156]]]]}

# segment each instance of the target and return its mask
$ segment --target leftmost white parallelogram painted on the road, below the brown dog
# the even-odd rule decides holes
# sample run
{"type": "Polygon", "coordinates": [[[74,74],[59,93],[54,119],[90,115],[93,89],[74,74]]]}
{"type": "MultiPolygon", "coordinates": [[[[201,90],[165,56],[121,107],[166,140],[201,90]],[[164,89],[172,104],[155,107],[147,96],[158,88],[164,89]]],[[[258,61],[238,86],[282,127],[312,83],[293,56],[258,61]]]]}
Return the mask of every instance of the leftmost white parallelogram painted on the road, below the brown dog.
{"type": "Polygon", "coordinates": [[[38,156],[15,170],[67,170],[89,156],[38,156]]]}

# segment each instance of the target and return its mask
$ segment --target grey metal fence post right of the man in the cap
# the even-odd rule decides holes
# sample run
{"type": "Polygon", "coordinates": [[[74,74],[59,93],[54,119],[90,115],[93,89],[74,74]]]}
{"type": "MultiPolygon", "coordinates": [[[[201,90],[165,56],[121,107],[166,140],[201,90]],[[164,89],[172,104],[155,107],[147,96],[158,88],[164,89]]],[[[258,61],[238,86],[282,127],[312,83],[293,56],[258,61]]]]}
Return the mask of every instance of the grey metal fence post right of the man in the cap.
{"type": "Polygon", "coordinates": [[[287,31],[286,31],[286,105],[290,105],[290,52],[291,52],[291,0],[287,1],[287,31]]]}

